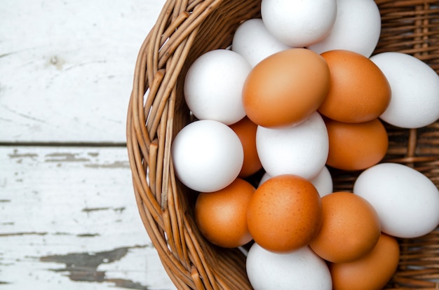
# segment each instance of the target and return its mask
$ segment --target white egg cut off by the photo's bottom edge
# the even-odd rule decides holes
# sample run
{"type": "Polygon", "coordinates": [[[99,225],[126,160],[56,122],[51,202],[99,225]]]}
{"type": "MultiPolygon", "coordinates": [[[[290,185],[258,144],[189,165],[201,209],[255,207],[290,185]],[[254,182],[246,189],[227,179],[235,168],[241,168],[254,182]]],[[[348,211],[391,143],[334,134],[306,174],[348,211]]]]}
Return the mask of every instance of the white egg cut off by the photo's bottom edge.
{"type": "Polygon", "coordinates": [[[246,269],[256,290],[330,290],[332,279],[325,261],[309,247],[277,254],[252,244],[246,269]]]}

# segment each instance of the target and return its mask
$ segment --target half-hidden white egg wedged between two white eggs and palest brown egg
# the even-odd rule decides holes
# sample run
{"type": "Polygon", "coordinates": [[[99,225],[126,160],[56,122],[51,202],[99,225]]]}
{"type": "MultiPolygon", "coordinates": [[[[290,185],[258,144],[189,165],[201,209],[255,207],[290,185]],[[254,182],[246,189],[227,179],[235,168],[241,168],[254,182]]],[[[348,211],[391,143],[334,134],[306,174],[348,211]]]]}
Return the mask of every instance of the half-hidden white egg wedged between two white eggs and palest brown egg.
{"type": "Polygon", "coordinates": [[[291,48],[278,41],[265,27],[260,18],[247,20],[234,34],[231,50],[236,51],[247,60],[252,67],[269,55],[291,48]]]}

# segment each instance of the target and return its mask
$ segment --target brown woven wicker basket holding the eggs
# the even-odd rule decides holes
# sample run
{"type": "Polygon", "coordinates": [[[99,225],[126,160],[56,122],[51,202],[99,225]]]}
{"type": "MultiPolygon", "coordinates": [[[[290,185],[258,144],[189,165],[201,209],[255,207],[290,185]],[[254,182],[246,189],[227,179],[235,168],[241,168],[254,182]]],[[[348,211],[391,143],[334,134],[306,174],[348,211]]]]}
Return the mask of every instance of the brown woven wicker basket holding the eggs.
{"type": "MultiPolygon", "coordinates": [[[[177,289],[251,289],[245,255],[206,242],[194,223],[196,194],[175,179],[170,144],[191,121],[184,103],[187,69],[208,50],[227,48],[236,27],[260,16],[260,0],[168,0],[145,39],[127,120],[127,146],[140,216],[177,289]],[[147,177],[149,181],[147,182],[147,177]]],[[[375,53],[409,53],[439,71],[439,1],[377,0],[375,53]]],[[[439,186],[439,122],[419,130],[387,127],[386,160],[410,165],[439,186]]],[[[332,172],[351,191],[356,174],[332,172]]],[[[386,289],[439,289],[439,230],[400,240],[400,265],[386,289]]]]}

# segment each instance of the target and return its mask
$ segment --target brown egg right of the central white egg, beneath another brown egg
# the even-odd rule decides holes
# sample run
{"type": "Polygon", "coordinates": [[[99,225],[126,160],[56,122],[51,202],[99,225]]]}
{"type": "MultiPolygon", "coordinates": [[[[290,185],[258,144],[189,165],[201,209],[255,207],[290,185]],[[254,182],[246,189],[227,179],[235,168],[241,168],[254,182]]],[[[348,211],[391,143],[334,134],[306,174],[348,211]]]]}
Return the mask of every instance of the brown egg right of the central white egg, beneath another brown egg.
{"type": "Polygon", "coordinates": [[[329,139],[327,165],[340,170],[364,170],[386,155],[389,137],[379,119],[364,123],[324,120],[329,139]]]}

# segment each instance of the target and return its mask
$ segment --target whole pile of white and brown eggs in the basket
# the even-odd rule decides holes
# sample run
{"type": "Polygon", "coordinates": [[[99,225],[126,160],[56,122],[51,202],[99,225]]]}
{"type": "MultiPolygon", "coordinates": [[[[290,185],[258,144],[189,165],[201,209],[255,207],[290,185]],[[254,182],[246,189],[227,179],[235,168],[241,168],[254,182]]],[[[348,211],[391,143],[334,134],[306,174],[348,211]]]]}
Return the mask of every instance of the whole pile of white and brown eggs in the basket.
{"type": "Polygon", "coordinates": [[[262,0],[261,15],[185,78],[196,120],[171,153],[176,177],[198,194],[196,225],[219,247],[252,242],[255,289],[381,289],[398,265],[396,238],[439,224],[433,182],[380,163],[383,122],[438,120],[439,76],[410,55],[372,56],[373,0],[262,0]],[[353,192],[333,192],[328,167],[360,171],[353,192]]]}

